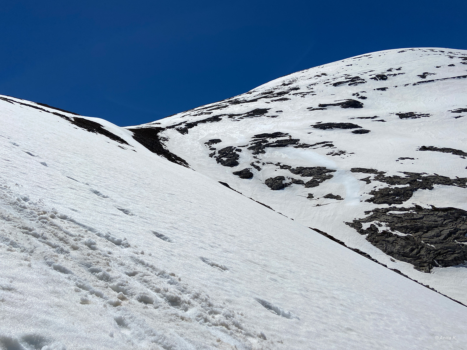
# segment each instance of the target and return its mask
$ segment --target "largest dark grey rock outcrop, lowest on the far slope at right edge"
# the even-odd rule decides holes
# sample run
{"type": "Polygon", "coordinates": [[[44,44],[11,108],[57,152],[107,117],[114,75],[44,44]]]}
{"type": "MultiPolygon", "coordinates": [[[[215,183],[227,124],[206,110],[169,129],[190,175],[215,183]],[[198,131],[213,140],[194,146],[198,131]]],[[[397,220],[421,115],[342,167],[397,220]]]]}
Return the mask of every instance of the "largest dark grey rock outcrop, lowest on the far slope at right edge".
{"type": "Polygon", "coordinates": [[[458,208],[375,208],[363,219],[346,223],[389,256],[430,272],[433,267],[463,264],[467,260],[467,211],[458,208]],[[363,229],[362,223],[378,222],[363,229]],[[403,235],[396,234],[398,231],[403,235]]]}

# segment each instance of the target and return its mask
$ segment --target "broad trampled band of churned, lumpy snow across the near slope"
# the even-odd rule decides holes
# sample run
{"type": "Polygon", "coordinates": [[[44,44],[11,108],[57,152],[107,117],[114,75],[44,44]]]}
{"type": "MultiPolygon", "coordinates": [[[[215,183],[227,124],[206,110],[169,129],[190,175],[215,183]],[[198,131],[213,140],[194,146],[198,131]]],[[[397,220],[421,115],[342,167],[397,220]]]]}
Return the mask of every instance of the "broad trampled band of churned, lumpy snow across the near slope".
{"type": "MultiPolygon", "coordinates": [[[[170,339],[144,322],[144,316],[130,311],[131,305],[133,311],[153,308],[156,313],[170,314],[180,321],[215,327],[248,348],[258,342],[264,342],[262,346],[268,348],[267,343],[272,342],[265,342],[263,332],[246,326],[242,312],[212,301],[175,273],[149,263],[147,256],[151,253],[137,249],[126,238],[95,230],[57,210],[43,210],[28,196],[17,196],[7,185],[0,187],[0,219],[5,223],[0,227],[0,249],[21,255],[28,266],[42,263],[66,275],[74,284],[78,304],[103,303],[105,308],[113,307],[115,324],[123,333],[139,329],[155,335],[149,337],[151,342],[170,343],[170,339]]],[[[153,233],[173,243],[169,237],[153,233]]],[[[228,271],[224,265],[200,259],[222,272],[228,271]]],[[[295,317],[268,301],[259,302],[276,315],[295,317]]]]}

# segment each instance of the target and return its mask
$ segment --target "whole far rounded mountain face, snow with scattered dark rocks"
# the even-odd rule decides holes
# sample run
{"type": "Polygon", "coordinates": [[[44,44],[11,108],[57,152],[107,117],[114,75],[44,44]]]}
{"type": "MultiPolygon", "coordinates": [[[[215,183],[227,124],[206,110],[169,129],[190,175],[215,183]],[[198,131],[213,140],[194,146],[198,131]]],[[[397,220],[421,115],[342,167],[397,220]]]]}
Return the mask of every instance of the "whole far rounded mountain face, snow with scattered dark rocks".
{"type": "Polygon", "coordinates": [[[157,127],[194,170],[467,303],[466,91],[467,51],[388,50],[138,128],[157,127]]]}

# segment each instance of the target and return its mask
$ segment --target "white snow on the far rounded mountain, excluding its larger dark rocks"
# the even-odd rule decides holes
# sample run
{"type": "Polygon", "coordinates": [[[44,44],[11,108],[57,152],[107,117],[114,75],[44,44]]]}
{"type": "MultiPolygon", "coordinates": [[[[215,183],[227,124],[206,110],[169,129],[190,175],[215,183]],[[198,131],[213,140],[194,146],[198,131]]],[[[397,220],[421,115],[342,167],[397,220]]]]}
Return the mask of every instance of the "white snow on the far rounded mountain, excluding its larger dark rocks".
{"type": "MultiPolygon", "coordinates": [[[[467,51],[387,50],[299,71],[245,94],[140,127],[165,127],[161,135],[168,138],[168,149],[194,170],[467,303],[467,269],[463,265],[440,268],[435,264],[431,273],[417,271],[408,262],[391,259],[344,224],[366,217],[367,210],[388,207],[366,202],[373,197],[370,191],[388,185],[372,181],[374,175],[351,172],[351,168],[373,168],[386,176],[414,172],[467,177],[466,91],[467,51]],[[195,121],[216,116],[221,120],[198,122],[186,129],[195,121]],[[320,128],[325,123],[334,127],[320,128]],[[353,133],[359,130],[369,132],[353,133]],[[264,148],[264,153],[249,149],[258,140],[254,135],[277,132],[285,135],[266,139],[272,146],[264,148]],[[212,139],[222,142],[205,144],[212,139]],[[283,140],[285,146],[278,147],[277,140],[283,140]],[[237,149],[238,165],[225,167],[218,163],[218,152],[230,146],[237,149]],[[453,151],[420,151],[422,146],[453,151]],[[319,186],[307,188],[291,179],[307,182],[310,177],[294,175],[281,165],[326,167],[335,172],[319,186]],[[251,179],[232,174],[245,168],[253,173],[251,179]],[[369,183],[359,181],[369,175],[369,183]],[[266,180],[276,176],[283,176],[283,183],[289,186],[269,189],[266,180]],[[327,194],[344,200],[326,198],[327,194]]],[[[419,189],[404,203],[393,205],[467,210],[466,203],[465,188],[434,185],[432,190],[419,189]]]]}

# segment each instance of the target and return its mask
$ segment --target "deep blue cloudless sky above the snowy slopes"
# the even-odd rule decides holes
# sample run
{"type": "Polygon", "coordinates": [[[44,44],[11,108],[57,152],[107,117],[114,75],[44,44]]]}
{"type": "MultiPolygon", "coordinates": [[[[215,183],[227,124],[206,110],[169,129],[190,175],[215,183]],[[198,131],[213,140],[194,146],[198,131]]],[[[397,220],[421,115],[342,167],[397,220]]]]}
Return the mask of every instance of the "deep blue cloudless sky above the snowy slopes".
{"type": "Polygon", "coordinates": [[[467,1],[5,1],[0,94],[136,125],[383,49],[467,49],[467,1]]]}

